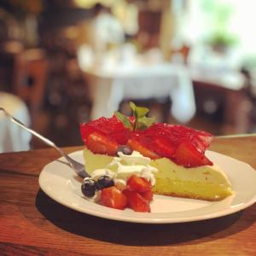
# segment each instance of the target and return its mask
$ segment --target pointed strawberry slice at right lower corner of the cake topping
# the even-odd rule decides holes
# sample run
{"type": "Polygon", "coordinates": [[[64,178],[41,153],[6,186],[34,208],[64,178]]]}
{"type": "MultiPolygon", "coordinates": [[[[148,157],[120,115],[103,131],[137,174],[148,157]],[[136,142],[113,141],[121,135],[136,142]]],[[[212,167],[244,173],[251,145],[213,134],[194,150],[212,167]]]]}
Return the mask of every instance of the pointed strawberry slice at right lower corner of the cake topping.
{"type": "Polygon", "coordinates": [[[187,142],[178,145],[174,159],[178,165],[185,167],[212,166],[212,162],[203,153],[187,142]]]}

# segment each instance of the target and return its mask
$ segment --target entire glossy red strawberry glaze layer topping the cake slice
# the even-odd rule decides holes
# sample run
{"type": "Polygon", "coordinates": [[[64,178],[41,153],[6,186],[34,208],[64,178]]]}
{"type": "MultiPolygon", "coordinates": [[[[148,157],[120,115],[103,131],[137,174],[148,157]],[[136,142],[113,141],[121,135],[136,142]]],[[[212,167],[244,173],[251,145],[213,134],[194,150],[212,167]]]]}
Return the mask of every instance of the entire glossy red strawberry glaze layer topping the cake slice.
{"type": "Polygon", "coordinates": [[[180,166],[212,165],[205,156],[212,135],[183,125],[155,123],[143,131],[131,131],[113,116],[81,124],[80,132],[95,154],[115,155],[120,145],[128,145],[151,159],[166,157],[180,166]]]}

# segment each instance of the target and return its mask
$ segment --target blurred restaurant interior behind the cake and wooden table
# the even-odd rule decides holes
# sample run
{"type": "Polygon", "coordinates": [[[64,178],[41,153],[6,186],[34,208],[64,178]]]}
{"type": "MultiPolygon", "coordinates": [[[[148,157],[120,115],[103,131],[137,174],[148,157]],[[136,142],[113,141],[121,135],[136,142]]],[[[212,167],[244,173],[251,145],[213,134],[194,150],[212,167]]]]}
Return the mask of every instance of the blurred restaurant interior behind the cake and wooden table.
{"type": "Polygon", "coordinates": [[[159,122],[253,133],[255,9],[250,0],[1,0],[0,107],[59,146],[81,145],[80,122],[129,114],[130,101],[159,122]]]}

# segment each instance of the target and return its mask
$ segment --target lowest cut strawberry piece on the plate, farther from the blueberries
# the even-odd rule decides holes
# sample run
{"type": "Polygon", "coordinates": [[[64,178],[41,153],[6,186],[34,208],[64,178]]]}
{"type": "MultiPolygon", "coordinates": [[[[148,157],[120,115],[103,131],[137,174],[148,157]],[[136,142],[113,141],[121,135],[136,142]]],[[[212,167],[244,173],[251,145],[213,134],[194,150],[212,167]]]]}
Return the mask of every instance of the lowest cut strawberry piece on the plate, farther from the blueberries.
{"type": "Polygon", "coordinates": [[[135,212],[150,212],[149,201],[143,198],[136,191],[130,189],[124,189],[123,194],[127,197],[128,206],[131,207],[135,212]]]}

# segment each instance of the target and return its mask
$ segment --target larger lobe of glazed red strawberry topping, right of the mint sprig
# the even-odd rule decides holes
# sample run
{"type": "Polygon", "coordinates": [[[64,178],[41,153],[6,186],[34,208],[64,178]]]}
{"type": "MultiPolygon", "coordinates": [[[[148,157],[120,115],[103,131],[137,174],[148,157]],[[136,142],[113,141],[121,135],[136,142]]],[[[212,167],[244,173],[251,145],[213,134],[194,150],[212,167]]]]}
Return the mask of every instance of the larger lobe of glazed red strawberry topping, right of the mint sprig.
{"type": "Polygon", "coordinates": [[[180,166],[196,167],[212,166],[205,156],[211,141],[212,135],[205,131],[196,131],[183,125],[154,124],[137,132],[132,137],[132,144],[130,139],[128,145],[151,159],[167,157],[180,166]],[[137,144],[140,147],[133,146],[137,144]]]}

